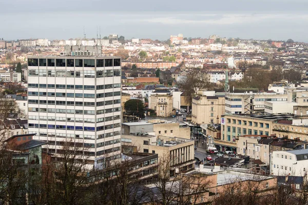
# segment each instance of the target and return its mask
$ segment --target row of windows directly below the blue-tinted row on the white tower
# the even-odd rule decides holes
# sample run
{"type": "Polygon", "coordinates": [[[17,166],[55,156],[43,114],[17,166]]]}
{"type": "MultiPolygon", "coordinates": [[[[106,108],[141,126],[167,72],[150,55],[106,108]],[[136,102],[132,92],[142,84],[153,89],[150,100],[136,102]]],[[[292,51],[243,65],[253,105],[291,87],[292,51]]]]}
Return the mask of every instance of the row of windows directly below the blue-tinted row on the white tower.
{"type": "MultiPolygon", "coordinates": [[[[29,132],[29,133],[36,133],[36,132],[29,132]]],[[[98,139],[102,139],[102,138],[108,138],[108,137],[112,137],[112,136],[118,136],[120,135],[121,132],[120,131],[115,131],[115,132],[109,132],[109,133],[105,133],[105,134],[100,134],[97,135],[98,139]]],[[[37,133],[38,136],[42,136],[42,137],[70,137],[70,138],[81,138],[81,139],[95,139],[95,135],[82,135],[82,134],[66,134],[66,133],[54,133],[54,132],[38,132],[37,133]]]]}

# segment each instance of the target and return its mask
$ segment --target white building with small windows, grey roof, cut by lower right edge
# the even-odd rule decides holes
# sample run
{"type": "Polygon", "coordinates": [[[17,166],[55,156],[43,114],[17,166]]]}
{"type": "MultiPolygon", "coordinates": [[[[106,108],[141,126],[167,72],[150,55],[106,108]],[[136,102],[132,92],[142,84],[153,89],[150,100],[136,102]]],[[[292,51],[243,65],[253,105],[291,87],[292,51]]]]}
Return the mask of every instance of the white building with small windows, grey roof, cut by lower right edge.
{"type": "Polygon", "coordinates": [[[308,149],[274,151],[271,173],[275,176],[304,176],[308,170],[308,149]]]}

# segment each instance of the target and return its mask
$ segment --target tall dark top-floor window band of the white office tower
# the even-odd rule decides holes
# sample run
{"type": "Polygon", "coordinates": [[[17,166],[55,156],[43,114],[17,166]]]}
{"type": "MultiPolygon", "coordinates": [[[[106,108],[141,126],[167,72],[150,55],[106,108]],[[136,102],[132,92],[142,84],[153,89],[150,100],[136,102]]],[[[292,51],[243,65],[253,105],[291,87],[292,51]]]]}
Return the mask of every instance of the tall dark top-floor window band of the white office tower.
{"type": "MultiPolygon", "coordinates": [[[[97,59],[97,67],[121,66],[121,59],[97,59]]],[[[95,59],[46,59],[29,58],[28,66],[95,67],[95,59]]]]}

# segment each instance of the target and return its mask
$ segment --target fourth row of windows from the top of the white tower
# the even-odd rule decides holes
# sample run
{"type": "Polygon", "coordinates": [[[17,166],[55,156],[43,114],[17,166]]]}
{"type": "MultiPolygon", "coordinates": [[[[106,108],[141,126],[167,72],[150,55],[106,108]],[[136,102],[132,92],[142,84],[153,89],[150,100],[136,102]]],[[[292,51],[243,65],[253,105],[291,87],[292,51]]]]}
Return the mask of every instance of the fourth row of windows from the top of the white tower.
{"type": "MultiPolygon", "coordinates": [[[[84,98],[95,98],[95,94],[90,93],[54,93],[54,92],[28,92],[29,96],[49,96],[49,97],[84,97],[84,98]]],[[[109,92],[109,93],[99,93],[96,94],[97,98],[101,97],[112,97],[120,96],[121,91],[118,92],[109,92]]],[[[45,100],[46,101],[46,100],[45,100]]]]}

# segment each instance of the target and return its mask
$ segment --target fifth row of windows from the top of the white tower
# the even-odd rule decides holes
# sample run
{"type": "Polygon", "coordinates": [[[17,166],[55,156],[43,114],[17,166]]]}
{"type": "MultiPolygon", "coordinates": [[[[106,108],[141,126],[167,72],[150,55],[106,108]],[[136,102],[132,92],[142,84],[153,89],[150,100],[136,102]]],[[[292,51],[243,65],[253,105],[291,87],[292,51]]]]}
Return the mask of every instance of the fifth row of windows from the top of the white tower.
{"type": "MultiPolygon", "coordinates": [[[[87,107],[94,107],[94,102],[80,102],[80,101],[61,101],[61,100],[37,100],[37,99],[29,99],[29,104],[40,104],[40,105],[60,105],[60,106],[87,106],[87,107]]],[[[96,106],[108,106],[108,105],[115,105],[120,104],[120,99],[115,100],[107,100],[107,101],[101,101],[97,102],[96,106]]]]}

